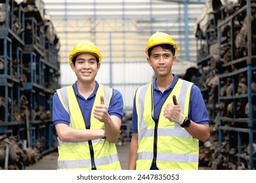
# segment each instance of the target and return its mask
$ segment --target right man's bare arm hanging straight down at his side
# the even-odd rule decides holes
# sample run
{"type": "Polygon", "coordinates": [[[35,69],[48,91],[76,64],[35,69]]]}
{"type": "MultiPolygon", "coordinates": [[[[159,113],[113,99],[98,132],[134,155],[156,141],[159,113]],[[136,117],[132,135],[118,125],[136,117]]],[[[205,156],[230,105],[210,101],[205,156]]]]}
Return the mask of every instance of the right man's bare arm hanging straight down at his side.
{"type": "Polygon", "coordinates": [[[137,150],[138,150],[138,133],[133,133],[131,137],[130,145],[130,156],[129,156],[129,170],[136,169],[136,160],[137,160],[137,150]]]}

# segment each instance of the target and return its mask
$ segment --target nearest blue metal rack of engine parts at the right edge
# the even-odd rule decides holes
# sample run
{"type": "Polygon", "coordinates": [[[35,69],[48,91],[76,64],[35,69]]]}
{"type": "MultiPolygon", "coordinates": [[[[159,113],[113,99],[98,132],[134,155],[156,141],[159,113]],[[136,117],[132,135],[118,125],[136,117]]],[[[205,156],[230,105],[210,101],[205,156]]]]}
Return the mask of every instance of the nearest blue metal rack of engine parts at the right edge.
{"type": "MultiPolygon", "coordinates": [[[[219,75],[219,151],[226,156],[228,162],[237,163],[234,169],[255,169],[256,153],[255,139],[256,92],[253,91],[252,82],[255,82],[255,50],[252,50],[252,26],[256,4],[246,1],[234,14],[218,22],[219,56],[223,61],[223,73],[219,75]],[[252,14],[253,12],[253,14],[252,14]],[[244,17],[244,18],[243,18],[244,17]],[[237,24],[242,22],[242,24],[237,24]],[[246,45],[238,43],[240,31],[247,27],[246,45]],[[226,31],[228,30],[228,31],[226,31]],[[226,39],[221,39],[226,37],[226,39]],[[230,45],[230,60],[224,58],[221,48],[230,45]],[[228,84],[227,84],[228,83],[228,84]],[[225,88],[228,87],[228,88],[225,88]]],[[[226,163],[226,169],[232,169],[226,163]]]]}

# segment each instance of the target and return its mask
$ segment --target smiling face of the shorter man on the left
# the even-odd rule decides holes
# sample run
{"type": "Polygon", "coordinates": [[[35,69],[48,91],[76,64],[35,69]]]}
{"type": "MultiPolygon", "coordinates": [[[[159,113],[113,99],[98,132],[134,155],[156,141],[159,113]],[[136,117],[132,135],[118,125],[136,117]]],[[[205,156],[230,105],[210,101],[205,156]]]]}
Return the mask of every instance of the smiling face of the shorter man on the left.
{"type": "Polygon", "coordinates": [[[95,56],[91,54],[79,54],[75,64],[71,63],[71,68],[77,76],[77,82],[91,84],[95,82],[100,63],[97,63],[95,56]]]}

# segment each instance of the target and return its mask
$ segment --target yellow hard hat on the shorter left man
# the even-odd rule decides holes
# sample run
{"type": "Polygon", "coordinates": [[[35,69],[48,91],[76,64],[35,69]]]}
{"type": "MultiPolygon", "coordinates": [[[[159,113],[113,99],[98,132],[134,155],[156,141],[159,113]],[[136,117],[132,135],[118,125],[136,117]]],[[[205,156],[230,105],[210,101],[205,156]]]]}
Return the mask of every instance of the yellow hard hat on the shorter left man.
{"type": "Polygon", "coordinates": [[[96,58],[98,58],[99,61],[101,61],[102,56],[100,52],[98,52],[98,48],[95,46],[95,44],[93,44],[93,42],[91,41],[85,40],[77,43],[73,48],[68,59],[70,61],[70,64],[72,63],[72,58],[83,53],[93,54],[94,56],[96,56],[96,58]]]}

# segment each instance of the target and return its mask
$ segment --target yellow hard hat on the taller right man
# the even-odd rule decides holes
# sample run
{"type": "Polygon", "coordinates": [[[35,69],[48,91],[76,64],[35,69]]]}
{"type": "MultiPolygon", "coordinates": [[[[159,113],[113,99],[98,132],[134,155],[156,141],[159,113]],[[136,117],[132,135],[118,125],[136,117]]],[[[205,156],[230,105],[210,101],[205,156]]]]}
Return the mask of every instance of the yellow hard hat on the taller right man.
{"type": "Polygon", "coordinates": [[[146,49],[145,49],[146,55],[148,56],[149,48],[159,44],[171,44],[175,48],[175,56],[179,54],[178,45],[176,44],[175,41],[173,41],[171,36],[167,35],[167,33],[157,31],[156,33],[154,33],[154,35],[150,37],[150,39],[148,39],[148,46],[146,46],[146,49]]]}

